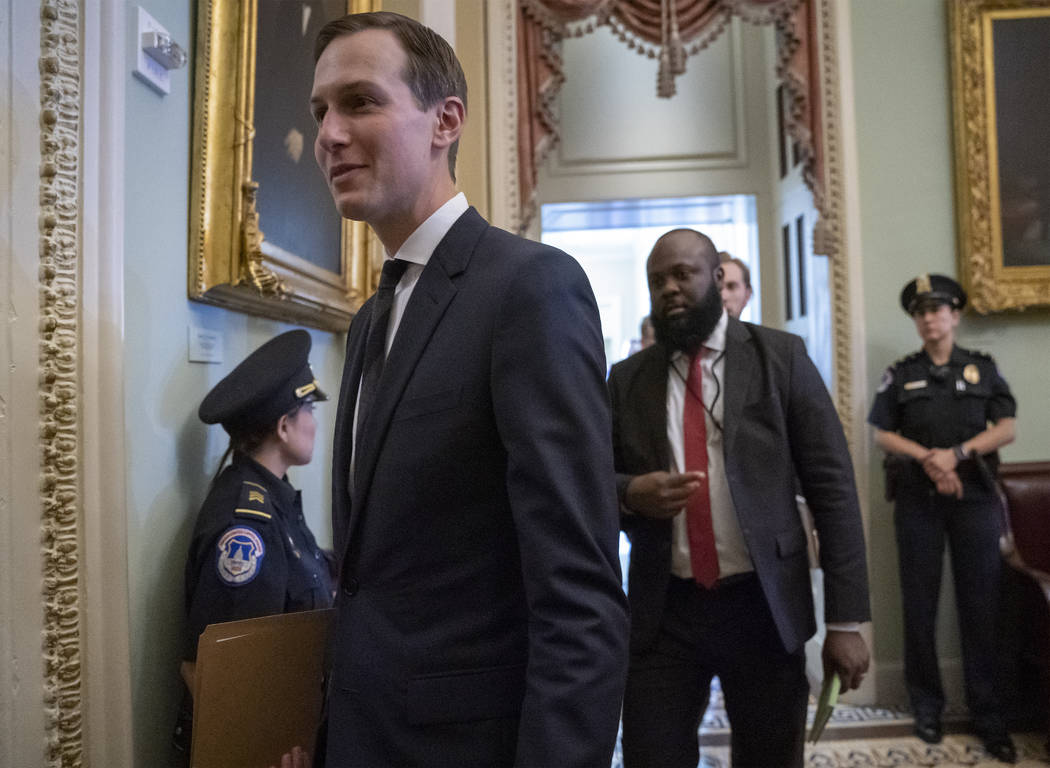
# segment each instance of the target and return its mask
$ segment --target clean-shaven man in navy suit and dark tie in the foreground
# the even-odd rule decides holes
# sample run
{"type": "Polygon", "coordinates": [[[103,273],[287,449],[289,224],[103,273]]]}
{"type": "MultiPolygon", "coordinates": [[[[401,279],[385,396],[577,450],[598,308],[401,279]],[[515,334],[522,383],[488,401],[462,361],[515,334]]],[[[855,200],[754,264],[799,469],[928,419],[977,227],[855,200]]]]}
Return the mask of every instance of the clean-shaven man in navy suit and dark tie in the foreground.
{"type": "Polygon", "coordinates": [[[457,194],[444,40],[362,14],[315,51],[317,162],[387,256],[336,416],[328,765],[608,766],[627,613],[590,286],[457,194]]]}

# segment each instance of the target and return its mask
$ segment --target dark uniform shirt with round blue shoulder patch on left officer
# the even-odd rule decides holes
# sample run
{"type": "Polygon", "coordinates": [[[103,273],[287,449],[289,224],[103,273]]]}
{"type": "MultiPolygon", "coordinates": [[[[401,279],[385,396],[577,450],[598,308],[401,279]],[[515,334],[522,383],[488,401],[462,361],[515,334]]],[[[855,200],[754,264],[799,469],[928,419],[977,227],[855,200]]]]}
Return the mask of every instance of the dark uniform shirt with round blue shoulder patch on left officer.
{"type": "Polygon", "coordinates": [[[332,605],[328,557],[302,516],[299,492],[250,457],[208,494],[186,564],[189,646],[208,624],[332,605]]]}

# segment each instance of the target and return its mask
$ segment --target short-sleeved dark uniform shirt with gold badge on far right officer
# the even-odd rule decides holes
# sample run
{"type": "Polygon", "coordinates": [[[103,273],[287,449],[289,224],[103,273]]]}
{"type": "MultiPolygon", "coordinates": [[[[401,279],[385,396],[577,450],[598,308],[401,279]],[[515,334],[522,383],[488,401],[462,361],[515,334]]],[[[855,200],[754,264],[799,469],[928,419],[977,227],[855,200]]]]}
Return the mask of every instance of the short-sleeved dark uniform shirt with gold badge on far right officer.
{"type": "MultiPolygon", "coordinates": [[[[933,365],[924,350],[890,366],[867,420],[924,448],[951,448],[984,432],[989,422],[1015,413],[1013,395],[994,360],[981,352],[952,347],[944,366],[933,365]]],[[[910,480],[923,481],[921,466],[910,464],[910,480]]],[[[983,486],[972,464],[963,462],[958,468],[966,490],[983,486]]]]}

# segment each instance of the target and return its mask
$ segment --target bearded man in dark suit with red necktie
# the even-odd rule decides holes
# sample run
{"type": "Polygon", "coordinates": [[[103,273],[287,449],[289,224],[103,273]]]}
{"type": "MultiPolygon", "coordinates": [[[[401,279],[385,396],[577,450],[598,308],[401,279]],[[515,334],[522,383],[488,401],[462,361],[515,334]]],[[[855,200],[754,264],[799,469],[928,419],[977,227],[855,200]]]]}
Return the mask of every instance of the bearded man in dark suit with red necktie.
{"type": "Polygon", "coordinates": [[[815,631],[810,501],[824,569],[825,673],[868,651],[864,539],[841,424],[797,336],[722,309],[711,241],[662,236],[647,263],[657,344],[612,368],[613,452],[631,539],[624,762],[689,766],[717,674],[734,766],[801,766],[815,631]]]}

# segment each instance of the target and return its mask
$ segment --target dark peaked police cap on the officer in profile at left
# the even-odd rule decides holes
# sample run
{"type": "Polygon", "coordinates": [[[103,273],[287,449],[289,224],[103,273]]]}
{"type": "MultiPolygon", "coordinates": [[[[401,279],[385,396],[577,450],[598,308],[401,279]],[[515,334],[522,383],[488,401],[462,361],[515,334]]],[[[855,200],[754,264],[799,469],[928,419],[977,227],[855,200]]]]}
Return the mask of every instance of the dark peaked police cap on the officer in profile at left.
{"type": "Polygon", "coordinates": [[[288,331],[246,357],[201,402],[206,424],[231,435],[264,429],[306,400],[327,400],[310,369],[310,334],[288,331]]]}

